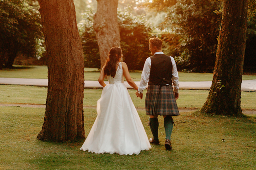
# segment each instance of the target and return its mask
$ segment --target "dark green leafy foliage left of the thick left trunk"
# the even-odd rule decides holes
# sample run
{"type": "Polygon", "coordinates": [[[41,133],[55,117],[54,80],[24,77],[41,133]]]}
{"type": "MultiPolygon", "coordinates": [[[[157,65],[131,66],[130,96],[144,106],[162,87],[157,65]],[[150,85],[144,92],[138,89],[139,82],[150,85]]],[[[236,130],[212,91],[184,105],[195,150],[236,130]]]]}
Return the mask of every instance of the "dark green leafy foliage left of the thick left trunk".
{"type": "Polygon", "coordinates": [[[38,5],[27,0],[0,0],[0,51],[16,57],[40,57],[43,32],[38,5]]]}

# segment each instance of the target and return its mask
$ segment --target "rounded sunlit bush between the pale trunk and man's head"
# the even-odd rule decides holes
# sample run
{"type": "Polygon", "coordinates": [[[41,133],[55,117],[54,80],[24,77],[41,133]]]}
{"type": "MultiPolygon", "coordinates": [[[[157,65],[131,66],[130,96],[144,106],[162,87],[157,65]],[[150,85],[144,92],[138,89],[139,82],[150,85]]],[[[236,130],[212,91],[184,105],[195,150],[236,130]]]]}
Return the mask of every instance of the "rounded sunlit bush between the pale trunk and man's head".
{"type": "Polygon", "coordinates": [[[124,62],[131,70],[142,70],[149,57],[149,33],[152,28],[142,15],[133,16],[131,10],[118,10],[118,25],[124,62]]]}

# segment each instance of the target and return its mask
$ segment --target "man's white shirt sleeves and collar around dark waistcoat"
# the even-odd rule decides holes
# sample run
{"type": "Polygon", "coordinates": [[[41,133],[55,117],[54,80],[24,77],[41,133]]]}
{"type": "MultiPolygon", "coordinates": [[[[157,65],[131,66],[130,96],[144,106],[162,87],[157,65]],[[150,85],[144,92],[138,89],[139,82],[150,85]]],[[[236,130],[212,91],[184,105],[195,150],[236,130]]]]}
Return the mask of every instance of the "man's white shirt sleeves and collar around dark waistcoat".
{"type": "MultiPolygon", "coordinates": [[[[155,52],[154,55],[156,55],[156,54],[164,54],[164,53],[163,52],[155,52]]],[[[173,84],[174,92],[178,93],[179,75],[178,75],[176,63],[175,63],[175,60],[173,57],[171,57],[171,63],[172,63],[172,73],[171,73],[172,74],[172,84],[173,84]]],[[[151,68],[151,59],[149,57],[146,59],[146,62],[144,64],[143,71],[141,74],[141,80],[140,80],[140,84],[139,84],[139,88],[138,88],[138,91],[140,93],[142,93],[143,90],[145,90],[145,88],[147,87],[147,84],[149,82],[150,68],[151,68]]]]}

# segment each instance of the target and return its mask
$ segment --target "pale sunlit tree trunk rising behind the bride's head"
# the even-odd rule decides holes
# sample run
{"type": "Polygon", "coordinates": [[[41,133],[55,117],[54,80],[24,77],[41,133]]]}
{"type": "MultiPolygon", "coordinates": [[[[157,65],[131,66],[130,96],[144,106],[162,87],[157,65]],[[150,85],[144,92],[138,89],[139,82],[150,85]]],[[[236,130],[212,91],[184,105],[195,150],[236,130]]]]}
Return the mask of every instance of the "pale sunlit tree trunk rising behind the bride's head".
{"type": "Polygon", "coordinates": [[[101,68],[104,66],[108,52],[113,46],[120,47],[120,32],[117,23],[118,0],[97,0],[97,12],[93,27],[101,56],[101,68]]]}

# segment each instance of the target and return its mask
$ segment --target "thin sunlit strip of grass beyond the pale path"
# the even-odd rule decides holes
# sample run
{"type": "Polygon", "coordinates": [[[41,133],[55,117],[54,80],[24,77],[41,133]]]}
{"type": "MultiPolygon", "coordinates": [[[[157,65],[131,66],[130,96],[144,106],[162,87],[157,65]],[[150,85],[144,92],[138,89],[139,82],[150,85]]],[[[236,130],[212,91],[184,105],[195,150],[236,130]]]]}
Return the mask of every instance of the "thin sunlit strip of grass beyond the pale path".
{"type": "MultiPolygon", "coordinates": [[[[140,81],[141,71],[130,72],[133,81],[140,81]]],[[[85,80],[95,80],[99,78],[100,72],[97,68],[85,68],[85,80]]],[[[48,78],[47,66],[15,66],[14,69],[0,70],[0,77],[11,78],[48,78]]],[[[186,73],[179,72],[179,81],[212,81],[212,73],[186,73]]],[[[244,75],[243,80],[256,79],[256,75],[244,75]]]]}

